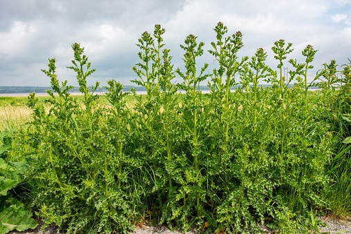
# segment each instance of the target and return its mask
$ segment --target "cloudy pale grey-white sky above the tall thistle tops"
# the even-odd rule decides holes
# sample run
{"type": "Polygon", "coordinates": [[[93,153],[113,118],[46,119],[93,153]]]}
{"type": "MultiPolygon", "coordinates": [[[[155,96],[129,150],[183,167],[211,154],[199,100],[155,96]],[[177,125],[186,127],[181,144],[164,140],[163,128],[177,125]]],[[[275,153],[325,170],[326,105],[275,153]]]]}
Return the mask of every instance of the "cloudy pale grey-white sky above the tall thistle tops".
{"type": "Polygon", "coordinates": [[[274,41],[293,43],[284,61],[289,70],[287,60],[303,63],[301,52],[311,44],[318,52],[309,79],[331,59],[342,65],[351,58],[350,0],[11,0],[0,1],[0,86],[50,86],[41,69],[48,69],[51,58],[57,61],[58,79],[77,86],[75,73],[66,68],[72,65],[73,43],[84,47],[91,68],[97,68],[88,84],[104,86],[115,79],[133,85],[132,68],[140,62],[137,40],[155,24],[166,30],[164,48],[171,49],[174,68],[184,71],[180,44],[193,34],[205,43],[198,67],[208,63],[211,72],[218,64],[207,50],[216,41],[219,21],[227,36],[243,33],[240,58],[264,48],[266,64],[274,69],[274,41]]]}

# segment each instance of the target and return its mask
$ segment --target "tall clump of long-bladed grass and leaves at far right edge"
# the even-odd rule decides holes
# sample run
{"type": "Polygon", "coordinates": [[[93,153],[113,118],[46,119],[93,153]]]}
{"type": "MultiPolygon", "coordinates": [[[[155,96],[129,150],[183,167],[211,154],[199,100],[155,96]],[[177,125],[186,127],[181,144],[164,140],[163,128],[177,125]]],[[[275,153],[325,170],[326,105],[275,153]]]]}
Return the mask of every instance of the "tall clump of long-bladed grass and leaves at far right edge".
{"type": "MultiPolygon", "coordinates": [[[[350,59],[349,59],[350,61],[350,59]]],[[[325,106],[328,119],[334,134],[333,150],[334,157],[328,166],[328,174],[333,179],[326,188],[325,196],[332,200],[332,212],[345,217],[350,215],[351,202],[351,177],[350,177],[350,63],[344,64],[343,70],[336,70],[336,61],[330,64],[323,64],[325,67],[320,71],[323,87],[323,95],[326,99],[325,106]],[[335,90],[339,88],[339,90],[335,90]]]]}

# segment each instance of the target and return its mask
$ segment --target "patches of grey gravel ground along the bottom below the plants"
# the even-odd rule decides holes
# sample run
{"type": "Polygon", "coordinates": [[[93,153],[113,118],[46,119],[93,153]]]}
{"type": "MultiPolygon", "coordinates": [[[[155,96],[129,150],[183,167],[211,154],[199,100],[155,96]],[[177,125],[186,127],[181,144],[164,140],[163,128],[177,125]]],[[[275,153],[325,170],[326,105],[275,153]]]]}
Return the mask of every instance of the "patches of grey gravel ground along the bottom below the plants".
{"type": "MultiPolygon", "coordinates": [[[[351,234],[351,220],[333,220],[327,217],[319,217],[319,220],[328,225],[328,227],[321,227],[321,233],[330,233],[334,234],[338,231],[346,231],[345,234],[351,234]]],[[[55,224],[50,224],[48,228],[44,231],[41,231],[41,227],[44,225],[44,222],[39,221],[39,225],[35,229],[28,229],[27,231],[10,231],[9,234],[66,234],[64,232],[57,232],[57,226],[55,224]]],[[[263,233],[274,233],[269,231],[264,226],[263,233]]],[[[164,226],[148,226],[143,225],[135,229],[132,232],[133,234],[182,234],[181,231],[171,231],[169,228],[164,226]]],[[[197,234],[197,231],[190,231],[187,234],[197,234]]]]}

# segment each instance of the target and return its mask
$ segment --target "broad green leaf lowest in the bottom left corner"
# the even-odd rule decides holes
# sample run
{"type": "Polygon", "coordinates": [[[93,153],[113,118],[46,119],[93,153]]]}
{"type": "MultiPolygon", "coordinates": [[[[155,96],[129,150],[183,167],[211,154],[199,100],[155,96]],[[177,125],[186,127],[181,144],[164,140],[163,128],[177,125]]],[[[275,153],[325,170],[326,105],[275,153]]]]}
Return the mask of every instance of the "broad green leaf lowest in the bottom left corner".
{"type": "Polygon", "coordinates": [[[38,223],[32,219],[32,213],[23,207],[23,204],[13,197],[0,199],[0,234],[14,229],[24,231],[36,228],[38,223]]]}

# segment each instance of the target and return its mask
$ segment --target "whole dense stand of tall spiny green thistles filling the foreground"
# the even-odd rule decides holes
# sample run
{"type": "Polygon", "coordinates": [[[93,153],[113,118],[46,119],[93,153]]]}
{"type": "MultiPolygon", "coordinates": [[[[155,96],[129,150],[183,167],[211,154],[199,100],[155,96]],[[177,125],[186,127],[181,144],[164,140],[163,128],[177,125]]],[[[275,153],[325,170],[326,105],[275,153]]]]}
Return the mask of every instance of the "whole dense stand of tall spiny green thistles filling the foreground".
{"type": "Polygon", "coordinates": [[[222,23],[214,30],[209,53],[218,68],[211,74],[208,64],[197,64],[204,43],[196,36],[184,40],[184,68],[175,69],[164,29],[142,33],[133,82],[147,95],[132,89],[132,105],[114,80],[104,100],[94,93],[98,82],[87,86],[95,69],[79,43],[68,68],[77,73],[82,101],[59,82],[49,59],[43,72],[57,95],[48,90],[46,104],[35,93],[28,97],[32,121],[2,153],[6,162],[32,159],[16,192],[28,208],[68,233],[127,233],[143,220],[184,231],[258,233],[260,223],[296,233],[318,231],[316,213],[348,215],[350,64],[341,71],[335,61],[323,64],[307,83],[317,52],[308,45],[305,61],[289,60],[286,81],[291,43],[274,43],[276,72],[262,48],[238,58],[241,32],[227,36],[222,23]],[[173,84],[176,74],[181,84],[173,84]],[[206,95],[198,88],[205,80],[206,95]],[[260,80],[271,86],[259,87],[260,80]],[[314,85],[322,91],[308,95],[314,85]]]}

